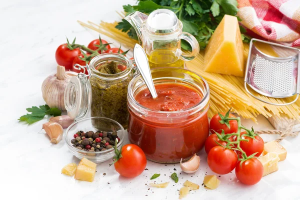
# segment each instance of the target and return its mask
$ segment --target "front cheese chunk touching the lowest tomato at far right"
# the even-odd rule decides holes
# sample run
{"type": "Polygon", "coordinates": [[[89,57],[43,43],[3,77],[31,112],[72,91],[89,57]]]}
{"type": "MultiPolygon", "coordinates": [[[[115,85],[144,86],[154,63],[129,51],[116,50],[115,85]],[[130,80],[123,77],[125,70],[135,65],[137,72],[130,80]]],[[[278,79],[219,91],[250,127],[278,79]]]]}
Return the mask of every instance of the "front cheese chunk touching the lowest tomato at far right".
{"type": "Polygon", "coordinates": [[[258,157],[257,159],[261,162],[263,166],[262,176],[265,176],[269,173],[278,170],[278,161],[279,161],[278,153],[269,152],[266,155],[258,157]]]}

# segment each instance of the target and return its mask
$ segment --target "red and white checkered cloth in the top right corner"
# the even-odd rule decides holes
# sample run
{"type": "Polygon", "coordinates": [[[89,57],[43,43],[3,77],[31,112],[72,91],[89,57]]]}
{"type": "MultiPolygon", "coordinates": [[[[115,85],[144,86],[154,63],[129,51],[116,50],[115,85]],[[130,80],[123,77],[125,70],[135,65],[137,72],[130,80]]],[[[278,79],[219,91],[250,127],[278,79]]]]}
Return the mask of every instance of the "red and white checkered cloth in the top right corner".
{"type": "Polygon", "coordinates": [[[237,15],[250,36],[300,46],[300,0],[237,2],[237,15]]]}

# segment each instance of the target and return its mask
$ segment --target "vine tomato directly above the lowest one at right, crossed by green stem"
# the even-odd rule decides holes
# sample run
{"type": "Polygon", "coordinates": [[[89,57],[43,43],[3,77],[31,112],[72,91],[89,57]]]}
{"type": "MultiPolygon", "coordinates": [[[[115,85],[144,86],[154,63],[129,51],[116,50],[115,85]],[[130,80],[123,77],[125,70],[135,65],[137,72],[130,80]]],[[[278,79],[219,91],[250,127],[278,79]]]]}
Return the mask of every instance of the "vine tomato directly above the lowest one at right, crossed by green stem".
{"type": "MultiPolygon", "coordinates": [[[[242,136],[242,134],[245,134],[245,133],[246,132],[241,132],[240,136],[242,136]]],[[[249,140],[249,141],[240,141],[239,142],[239,146],[241,147],[241,149],[243,151],[245,151],[247,156],[257,152],[254,156],[258,157],[262,153],[263,148],[264,148],[264,142],[263,142],[263,139],[259,135],[254,136],[255,139],[253,139],[249,136],[242,136],[241,138],[249,140]]]]}

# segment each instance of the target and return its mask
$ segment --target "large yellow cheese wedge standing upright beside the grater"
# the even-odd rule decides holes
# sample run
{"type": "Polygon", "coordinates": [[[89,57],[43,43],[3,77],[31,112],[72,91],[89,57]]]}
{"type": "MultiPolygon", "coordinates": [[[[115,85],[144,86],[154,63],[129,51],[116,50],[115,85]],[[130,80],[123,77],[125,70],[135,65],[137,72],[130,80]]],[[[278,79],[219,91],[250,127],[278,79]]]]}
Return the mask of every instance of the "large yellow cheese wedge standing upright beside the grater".
{"type": "Polygon", "coordinates": [[[235,16],[225,14],[210,37],[205,48],[204,71],[244,75],[243,43],[235,16]]]}

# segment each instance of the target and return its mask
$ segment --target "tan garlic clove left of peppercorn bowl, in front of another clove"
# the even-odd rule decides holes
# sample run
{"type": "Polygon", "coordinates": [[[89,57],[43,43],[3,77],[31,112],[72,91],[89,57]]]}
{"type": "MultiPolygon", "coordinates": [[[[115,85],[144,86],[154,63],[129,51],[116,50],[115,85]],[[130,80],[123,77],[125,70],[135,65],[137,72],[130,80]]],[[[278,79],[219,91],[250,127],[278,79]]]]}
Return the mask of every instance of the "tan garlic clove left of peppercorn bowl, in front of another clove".
{"type": "Polygon", "coordinates": [[[50,142],[57,144],[63,134],[63,129],[59,123],[54,121],[45,122],[42,124],[42,128],[46,131],[50,137],[50,142]]]}

